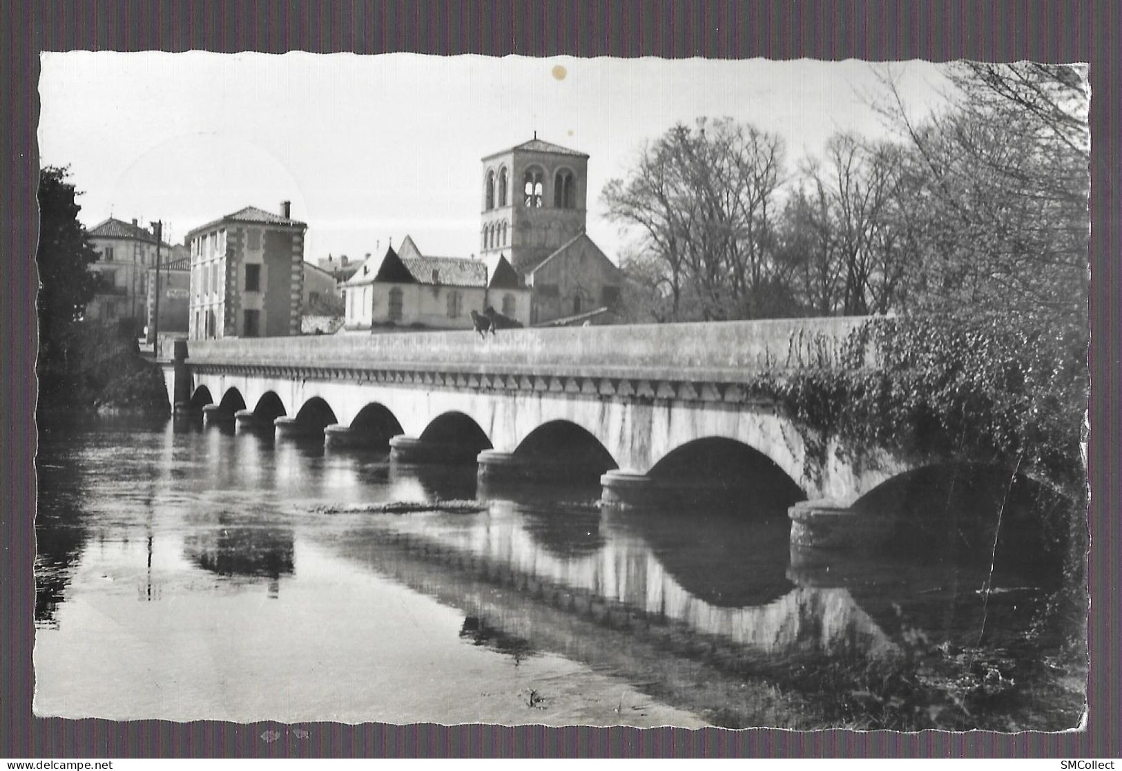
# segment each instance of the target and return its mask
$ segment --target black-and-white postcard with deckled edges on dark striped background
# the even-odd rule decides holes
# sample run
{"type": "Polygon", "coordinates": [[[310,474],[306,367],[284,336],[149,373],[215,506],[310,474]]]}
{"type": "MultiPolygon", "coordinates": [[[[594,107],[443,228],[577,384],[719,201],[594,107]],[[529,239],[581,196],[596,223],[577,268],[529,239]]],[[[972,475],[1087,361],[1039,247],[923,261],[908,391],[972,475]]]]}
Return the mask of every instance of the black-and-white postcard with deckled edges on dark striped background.
{"type": "Polygon", "coordinates": [[[1087,65],[39,63],[37,717],[1085,725],[1087,65]]]}

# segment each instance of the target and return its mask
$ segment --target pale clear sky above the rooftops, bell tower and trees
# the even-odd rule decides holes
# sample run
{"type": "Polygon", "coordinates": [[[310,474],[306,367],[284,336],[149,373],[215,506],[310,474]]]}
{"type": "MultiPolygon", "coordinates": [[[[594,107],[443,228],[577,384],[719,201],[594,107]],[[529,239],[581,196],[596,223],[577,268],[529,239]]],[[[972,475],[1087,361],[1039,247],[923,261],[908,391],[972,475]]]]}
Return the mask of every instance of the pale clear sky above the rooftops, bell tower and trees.
{"type": "MultiPolygon", "coordinates": [[[[938,65],[896,63],[914,114],[938,65]]],[[[674,123],[730,117],[780,135],[788,165],[837,131],[888,134],[857,61],[532,58],[386,54],[44,53],[43,165],[70,165],[80,219],[192,228],[247,205],[309,226],[304,258],[361,257],[406,235],[424,254],[479,250],[484,156],[539,138],[587,153],[588,233],[631,236],[600,191],[674,123]]]]}

